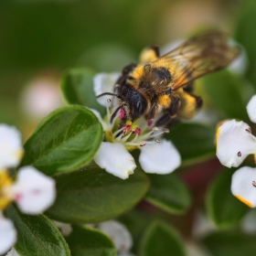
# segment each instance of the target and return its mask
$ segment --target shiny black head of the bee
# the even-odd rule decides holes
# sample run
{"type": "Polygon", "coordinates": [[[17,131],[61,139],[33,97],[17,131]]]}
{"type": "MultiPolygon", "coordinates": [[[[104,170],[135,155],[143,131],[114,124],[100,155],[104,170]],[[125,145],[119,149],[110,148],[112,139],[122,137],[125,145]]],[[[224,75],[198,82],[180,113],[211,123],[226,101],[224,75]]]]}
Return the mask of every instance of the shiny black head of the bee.
{"type": "Polygon", "coordinates": [[[142,116],[146,109],[147,101],[141,93],[126,83],[118,88],[118,95],[122,101],[121,110],[123,111],[124,120],[133,122],[142,116]]]}

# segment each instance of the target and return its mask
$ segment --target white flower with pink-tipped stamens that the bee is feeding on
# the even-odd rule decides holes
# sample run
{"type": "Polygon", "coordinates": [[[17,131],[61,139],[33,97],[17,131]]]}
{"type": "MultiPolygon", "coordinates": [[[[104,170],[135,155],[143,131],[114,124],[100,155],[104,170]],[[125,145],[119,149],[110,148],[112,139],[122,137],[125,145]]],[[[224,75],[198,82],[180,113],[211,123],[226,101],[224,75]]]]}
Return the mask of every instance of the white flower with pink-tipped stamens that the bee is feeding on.
{"type": "MultiPolygon", "coordinates": [[[[112,91],[119,75],[117,73],[96,75],[95,94],[112,91]]],[[[181,157],[175,145],[165,139],[161,141],[159,139],[162,134],[168,133],[167,129],[154,127],[154,123],[147,123],[144,118],[134,123],[127,122],[123,127],[119,127],[118,116],[111,120],[114,99],[103,96],[98,100],[107,108],[107,116],[102,119],[99,112],[91,110],[98,117],[105,132],[105,140],[94,157],[97,165],[112,175],[125,179],[133,174],[136,167],[133,156],[129,153],[135,148],[141,150],[139,162],[146,173],[168,174],[181,164],[181,157]]],[[[122,115],[122,112],[120,114],[122,115]]]]}

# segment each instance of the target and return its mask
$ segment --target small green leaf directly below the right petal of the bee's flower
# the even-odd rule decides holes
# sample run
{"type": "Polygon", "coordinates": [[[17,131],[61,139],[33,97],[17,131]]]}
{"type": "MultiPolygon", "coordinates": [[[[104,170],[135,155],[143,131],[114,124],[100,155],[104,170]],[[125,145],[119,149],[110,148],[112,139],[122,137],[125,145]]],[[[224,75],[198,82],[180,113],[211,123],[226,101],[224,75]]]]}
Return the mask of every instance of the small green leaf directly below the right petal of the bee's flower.
{"type": "Polygon", "coordinates": [[[191,204],[191,197],[185,184],[175,174],[148,175],[151,187],[146,199],[156,207],[169,213],[183,213],[191,204]]]}

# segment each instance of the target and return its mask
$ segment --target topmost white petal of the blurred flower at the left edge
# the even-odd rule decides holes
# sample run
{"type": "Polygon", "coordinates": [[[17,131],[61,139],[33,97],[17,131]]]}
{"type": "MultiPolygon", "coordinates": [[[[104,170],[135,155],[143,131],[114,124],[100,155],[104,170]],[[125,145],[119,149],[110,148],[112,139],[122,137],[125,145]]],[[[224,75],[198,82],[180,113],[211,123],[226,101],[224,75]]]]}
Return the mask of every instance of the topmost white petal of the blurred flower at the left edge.
{"type": "Polygon", "coordinates": [[[21,134],[13,126],[0,124],[0,169],[15,167],[23,155],[21,134]]]}

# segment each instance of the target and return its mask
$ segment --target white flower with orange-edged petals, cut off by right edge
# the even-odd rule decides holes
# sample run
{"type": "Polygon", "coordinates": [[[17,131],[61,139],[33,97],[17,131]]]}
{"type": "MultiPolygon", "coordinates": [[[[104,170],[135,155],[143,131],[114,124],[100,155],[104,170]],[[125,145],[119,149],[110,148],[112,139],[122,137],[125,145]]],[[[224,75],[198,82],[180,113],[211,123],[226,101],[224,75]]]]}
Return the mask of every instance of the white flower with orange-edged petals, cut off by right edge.
{"type": "MultiPolygon", "coordinates": [[[[256,95],[247,105],[251,122],[256,123],[256,95]]],[[[217,156],[222,165],[237,167],[248,155],[256,162],[256,137],[251,127],[242,121],[231,120],[219,126],[217,131],[217,156]]],[[[244,166],[232,176],[231,192],[251,208],[256,207],[256,168],[244,166]]]]}

